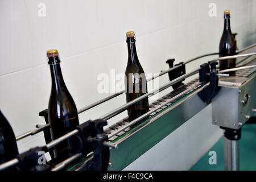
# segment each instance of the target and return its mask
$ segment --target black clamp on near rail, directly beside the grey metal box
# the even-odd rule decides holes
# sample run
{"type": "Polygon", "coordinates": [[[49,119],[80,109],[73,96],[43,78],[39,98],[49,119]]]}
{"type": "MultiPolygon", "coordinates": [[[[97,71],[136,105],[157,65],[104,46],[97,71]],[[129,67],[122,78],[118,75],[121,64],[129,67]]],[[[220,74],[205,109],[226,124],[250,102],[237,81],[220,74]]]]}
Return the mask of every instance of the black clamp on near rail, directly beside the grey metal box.
{"type": "Polygon", "coordinates": [[[218,89],[218,76],[216,71],[217,61],[209,61],[208,64],[200,65],[199,81],[202,85],[210,82],[209,85],[198,93],[203,102],[209,102],[218,89]]]}

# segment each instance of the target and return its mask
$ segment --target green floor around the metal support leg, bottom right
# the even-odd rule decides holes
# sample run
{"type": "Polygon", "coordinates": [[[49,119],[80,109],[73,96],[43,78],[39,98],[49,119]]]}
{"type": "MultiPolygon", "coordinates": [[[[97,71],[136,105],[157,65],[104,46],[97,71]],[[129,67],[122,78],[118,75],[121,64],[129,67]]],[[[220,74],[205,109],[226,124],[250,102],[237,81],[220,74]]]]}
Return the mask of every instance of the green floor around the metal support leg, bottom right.
{"type": "MultiPolygon", "coordinates": [[[[217,164],[210,165],[209,151],[191,168],[191,171],[223,171],[224,170],[224,138],[223,136],[209,151],[216,151],[217,164]]],[[[256,170],[256,125],[247,124],[242,127],[240,139],[240,170],[256,170]]]]}

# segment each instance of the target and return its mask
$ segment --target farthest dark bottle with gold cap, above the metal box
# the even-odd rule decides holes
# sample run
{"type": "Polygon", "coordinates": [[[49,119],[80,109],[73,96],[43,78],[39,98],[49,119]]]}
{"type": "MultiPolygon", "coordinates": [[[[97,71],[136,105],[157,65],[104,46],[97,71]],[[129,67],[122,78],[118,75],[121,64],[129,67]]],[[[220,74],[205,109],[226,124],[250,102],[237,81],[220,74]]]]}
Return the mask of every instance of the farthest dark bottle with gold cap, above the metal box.
{"type": "MultiPolygon", "coordinates": [[[[236,55],[236,42],[230,28],[230,11],[224,11],[224,30],[220,40],[219,55],[236,55]]],[[[220,70],[236,68],[236,59],[220,60],[220,70]]],[[[229,72],[232,75],[235,72],[229,72]]]]}

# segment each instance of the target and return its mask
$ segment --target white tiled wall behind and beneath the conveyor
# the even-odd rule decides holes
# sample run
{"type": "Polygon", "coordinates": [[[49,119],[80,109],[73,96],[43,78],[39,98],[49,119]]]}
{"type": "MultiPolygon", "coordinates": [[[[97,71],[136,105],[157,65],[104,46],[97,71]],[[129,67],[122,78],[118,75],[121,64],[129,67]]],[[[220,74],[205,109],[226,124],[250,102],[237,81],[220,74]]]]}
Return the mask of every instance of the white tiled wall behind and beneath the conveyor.
{"type": "MultiPolygon", "coordinates": [[[[2,0],[0,108],[16,135],[44,124],[38,112],[47,108],[51,89],[48,49],[59,50],[63,76],[78,109],[109,95],[97,92],[99,73],[109,75],[112,68],[115,73],[125,71],[126,31],[134,30],[137,35],[137,52],[146,73],[167,69],[168,58],[179,62],[216,52],[225,9],[231,10],[238,47],[255,43],[253,0],[2,0]],[[212,2],[217,5],[217,17],[211,18],[208,5],[212,2]],[[39,3],[46,5],[45,17],[38,16],[39,3]]],[[[204,61],[207,59],[189,64],[187,71],[204,61]]],[[[167,75],[159,79],[160,85],[167,81],[167,75]]],[[[122,104],[125,97],[115,98],[81,114],[80,122],[122,104]]],[[[221,135],[210,123],[209,110],[196,115],[126,169],[189,169],[221,135]],[[155,158],[151,160],[150,155],[155,158]]],[[[126,115],[123,112],[110,123],[126,115]]],[[[18,142],[20,152],[43,144],[42,134],[18,142]]]]}

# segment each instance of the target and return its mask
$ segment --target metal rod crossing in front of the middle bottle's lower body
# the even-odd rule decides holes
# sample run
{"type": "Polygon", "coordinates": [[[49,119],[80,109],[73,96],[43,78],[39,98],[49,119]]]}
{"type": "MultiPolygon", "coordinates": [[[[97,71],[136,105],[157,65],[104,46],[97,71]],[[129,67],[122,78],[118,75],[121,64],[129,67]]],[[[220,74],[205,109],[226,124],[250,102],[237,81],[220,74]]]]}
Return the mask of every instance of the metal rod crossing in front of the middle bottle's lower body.
{"type": "Polygon", "coordinates": [[[100,119],[108,120],[108,119],[112,118],[114,115],[116,115],[116,113],[121,113],[122,111],[127,109],[127,107],[135,104],[138,101],[141,101],[143,98],[146,98],[148,96],[154,95],[154,93],[161,92],[162,90],[168,88],[171,85],[176,84],[177,82],[183,80],[184,78],[187,78],[189,76],[195,75],[197,72],[199,72],[199,70],[200,70],[200,68],[197,68],[195,71],[192,71],[192,72],[189,72],[189,73],[187,73],[185,75],[177,77],[176,79],[168,82],[167,84],[164,84],[163,86],[160,86],[158,89],[152,90],[151,92],[148,92],[148,93],[144,94],[141,97],[135,98],[135,100],[127,102],[125,105],[122,105],[121,107],[119,107],[117,109],[114,109],[113,111],[110,111],[109,113],[103,115],[100,119]]]}

